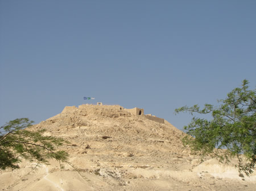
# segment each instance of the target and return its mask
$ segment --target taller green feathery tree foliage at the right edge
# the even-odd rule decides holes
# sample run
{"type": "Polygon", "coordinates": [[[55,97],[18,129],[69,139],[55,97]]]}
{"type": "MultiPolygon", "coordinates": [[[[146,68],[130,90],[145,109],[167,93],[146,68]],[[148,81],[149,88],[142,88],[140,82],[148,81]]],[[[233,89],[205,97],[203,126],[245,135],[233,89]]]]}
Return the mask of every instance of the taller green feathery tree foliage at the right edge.
{"type": "Polygon", "coordinates": [[[216,107],[205,104],[203,109],[198,105],[175,109],[175,113],[210,114],[211,120],[193,117],[184,126],[188,135],[183,143],[197,153],[216,156],[220,162],[238,158],[237,167],[247,176],[253,172],[256,161],[255,90],[249,90],[248,84],[243,80],[242,87],[234,88],[226,99],[218,100],[216,107]]]}

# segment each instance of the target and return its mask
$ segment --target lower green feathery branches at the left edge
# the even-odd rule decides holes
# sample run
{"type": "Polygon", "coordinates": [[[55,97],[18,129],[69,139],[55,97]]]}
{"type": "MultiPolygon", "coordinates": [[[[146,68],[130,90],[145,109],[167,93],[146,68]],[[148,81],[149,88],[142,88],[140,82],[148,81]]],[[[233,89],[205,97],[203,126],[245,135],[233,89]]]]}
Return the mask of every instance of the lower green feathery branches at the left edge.
{"type": "Polygon", "coordinates": [[[25,128],[33,121],[17,118],[0,128],[0,168],[19,168],[22,158],[37,163],[48,163],[48,159],[65,162],[68,153],[56,149],[66,141],[61,138],[44,136],[46,130],[30,131],[25,128]]]}

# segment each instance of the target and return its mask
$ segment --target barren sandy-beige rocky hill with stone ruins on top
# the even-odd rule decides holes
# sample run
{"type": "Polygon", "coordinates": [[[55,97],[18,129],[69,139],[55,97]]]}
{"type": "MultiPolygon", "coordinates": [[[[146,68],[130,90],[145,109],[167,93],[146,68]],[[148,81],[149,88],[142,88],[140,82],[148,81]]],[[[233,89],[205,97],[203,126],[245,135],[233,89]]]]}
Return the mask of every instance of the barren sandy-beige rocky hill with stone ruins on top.
{"type": "MultiPolygon", "coordinates": [[[[61,169],[24,161],[2,171],[0,190],[254,190],[256,176],[240,177],[230,165],[201,162],[183,147],[182,131],[119,105],[80,105],[34,125],[67,139],[71,162],[61,169]],[[30,172],[30,173],[29,173],[30,172]]],[[[235,161],[234,161],[235,163],[235,161]]]]}

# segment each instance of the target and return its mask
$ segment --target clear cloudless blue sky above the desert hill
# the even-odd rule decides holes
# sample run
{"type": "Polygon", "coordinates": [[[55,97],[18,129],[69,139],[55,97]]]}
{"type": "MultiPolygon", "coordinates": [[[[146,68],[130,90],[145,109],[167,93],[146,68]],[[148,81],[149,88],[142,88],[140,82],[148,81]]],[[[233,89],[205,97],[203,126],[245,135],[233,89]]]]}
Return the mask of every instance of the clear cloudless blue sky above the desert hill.
{"type": "Polygon", "coordinates": [[[216,104],[245,78],[255,88],[255,10],[255,0],[0,0],[0,125],[102,102],[182,129],[191,116],[175,108],[216,104]]]}

